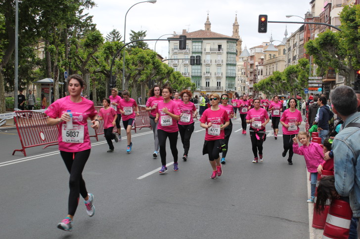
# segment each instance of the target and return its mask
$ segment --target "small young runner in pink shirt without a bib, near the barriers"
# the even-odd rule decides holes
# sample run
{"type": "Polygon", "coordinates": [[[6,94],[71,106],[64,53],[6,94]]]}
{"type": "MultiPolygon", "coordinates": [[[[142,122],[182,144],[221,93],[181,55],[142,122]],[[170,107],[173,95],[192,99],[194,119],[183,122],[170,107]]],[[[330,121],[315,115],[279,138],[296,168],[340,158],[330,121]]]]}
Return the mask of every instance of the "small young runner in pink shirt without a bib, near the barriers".
{"type": "Polygon", "coordinates": [[[118,115],[114,108],[110,107],[110,99],[104,98],[102,99],[103,108],[99,111],[99,120],[104,120],[104,136],[107,144],[109,145],[108,153],[114,152],[114,145],[112,140],[115,142],[119,141],[117,135],[113,133],[114,126],[116,125],[116,118],[118,115]]]}

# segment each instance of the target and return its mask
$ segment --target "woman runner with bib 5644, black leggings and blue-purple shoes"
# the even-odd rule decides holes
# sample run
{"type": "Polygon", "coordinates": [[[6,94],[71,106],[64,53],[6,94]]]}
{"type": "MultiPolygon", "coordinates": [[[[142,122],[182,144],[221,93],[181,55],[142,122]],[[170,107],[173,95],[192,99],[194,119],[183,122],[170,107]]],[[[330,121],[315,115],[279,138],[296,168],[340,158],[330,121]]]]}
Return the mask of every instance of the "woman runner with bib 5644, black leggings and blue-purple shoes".
{"type": "Polygon", "coordinates": [[[168,171],[166,167],[166,138],[169,137],[171,153],[174,157],[174,171],[178,171],[178,122],[180,119],[180,109],[176,102],[172,101],[170,97],[172,96],[173,91],[170,86],[165,86],[163,88],[162,96],[164,100],[159,102],[157,105],[157,112],[155,123],[158,124],[158,137],[160,145],[160,158],[161,158],[161,170],[159,173],[164,173],[168,171]]]}

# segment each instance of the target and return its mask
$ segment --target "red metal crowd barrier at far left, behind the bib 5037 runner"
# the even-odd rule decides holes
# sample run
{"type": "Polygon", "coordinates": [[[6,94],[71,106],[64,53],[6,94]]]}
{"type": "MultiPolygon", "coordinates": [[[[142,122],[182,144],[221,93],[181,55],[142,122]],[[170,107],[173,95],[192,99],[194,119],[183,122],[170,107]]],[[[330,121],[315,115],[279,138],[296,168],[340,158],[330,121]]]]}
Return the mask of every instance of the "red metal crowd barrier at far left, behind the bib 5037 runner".
{"type": "Polygon", "coordinates": [[[26,156],[26,148],[46,145],[44,148],[58,144],[59,126],[48,126],[44,112],[31,110],[15,111],[14,121],[22,149],[15,149],[26,156]]]}

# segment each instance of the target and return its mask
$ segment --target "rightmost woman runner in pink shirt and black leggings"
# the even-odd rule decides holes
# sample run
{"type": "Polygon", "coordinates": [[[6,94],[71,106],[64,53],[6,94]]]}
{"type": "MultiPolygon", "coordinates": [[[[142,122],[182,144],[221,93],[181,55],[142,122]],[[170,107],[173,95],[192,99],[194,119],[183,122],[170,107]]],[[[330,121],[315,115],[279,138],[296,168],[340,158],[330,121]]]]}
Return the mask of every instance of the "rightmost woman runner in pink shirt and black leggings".
{"type": "Polygon", "coordinates": [[[292,147],[293,137],[297,137],[299,134],[299,125],[303,121],[300,110],[296,109],[298,103],[295,98],[290,98],[288,102],[288,109],[284,111],[281,115],[280,123],[282,124],[282,138],[284,143],[284,152],[282,152],[282,157],[286,156],[287,151],[289,151],[289,158],[287,162],[289,165],[292,165],[292,156],[294,154],[292,147]]]}

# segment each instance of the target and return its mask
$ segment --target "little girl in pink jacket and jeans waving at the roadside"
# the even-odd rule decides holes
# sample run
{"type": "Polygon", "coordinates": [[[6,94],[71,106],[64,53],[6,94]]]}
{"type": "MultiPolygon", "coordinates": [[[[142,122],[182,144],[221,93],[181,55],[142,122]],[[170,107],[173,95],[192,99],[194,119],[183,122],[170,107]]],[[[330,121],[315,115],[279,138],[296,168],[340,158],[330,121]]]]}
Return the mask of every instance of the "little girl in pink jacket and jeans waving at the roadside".
{"type": "Polygon", "coordinates": [[[310,136],[308,133],[301,131],[298,136],[301,147],[298,145],[296,137],[293,138],[293,151],[295,154],[304,155],[306,168],[310,172],[311,178],[311,198],[308,199],[308,203],[314,203],[316,179],[317,179],[317,167],[319,164],[324,163],[323,149],[318,143],[310,142],[310,136]]]}

